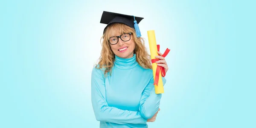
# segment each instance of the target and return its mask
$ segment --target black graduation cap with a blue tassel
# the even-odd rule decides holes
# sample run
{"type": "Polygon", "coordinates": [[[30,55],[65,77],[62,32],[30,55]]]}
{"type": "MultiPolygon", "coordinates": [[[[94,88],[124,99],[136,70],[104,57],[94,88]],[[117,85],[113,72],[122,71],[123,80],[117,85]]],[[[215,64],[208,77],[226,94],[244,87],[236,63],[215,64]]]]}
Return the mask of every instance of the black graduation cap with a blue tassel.
{"type": "MultiPolygon", "coordinates": [[[[108,27],[108,25],[110,25],[112,23],[124,23],[124,24],[130,26],[131,28],[135,29],[137,37],[141,37],[138,24],[140,23],[140,21],[142,19],[144,19],[144,18],[143,17],[135,17],[132,15],[124,15],[124,14],[119,14],[119,13],[103,11],[100,23],[107,24],[105,29],[108,27]]],[[[104,29],[103,33],[105,33],[105,29],[104,29]]]]}

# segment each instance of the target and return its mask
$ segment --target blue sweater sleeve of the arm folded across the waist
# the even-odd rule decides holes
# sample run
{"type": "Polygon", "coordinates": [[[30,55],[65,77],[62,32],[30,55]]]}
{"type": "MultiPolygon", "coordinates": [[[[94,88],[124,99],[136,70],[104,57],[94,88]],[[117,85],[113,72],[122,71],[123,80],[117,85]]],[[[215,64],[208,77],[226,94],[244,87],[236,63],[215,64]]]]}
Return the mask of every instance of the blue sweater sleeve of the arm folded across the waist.
{"type": "Polygon", "coordinates": [[[91,100],[96,120],[117,124],[145,124],[147,122],[139,111],[127,111],[110,107],[106,102],[104,73],[93,68],[91,76],[91,100]]]}

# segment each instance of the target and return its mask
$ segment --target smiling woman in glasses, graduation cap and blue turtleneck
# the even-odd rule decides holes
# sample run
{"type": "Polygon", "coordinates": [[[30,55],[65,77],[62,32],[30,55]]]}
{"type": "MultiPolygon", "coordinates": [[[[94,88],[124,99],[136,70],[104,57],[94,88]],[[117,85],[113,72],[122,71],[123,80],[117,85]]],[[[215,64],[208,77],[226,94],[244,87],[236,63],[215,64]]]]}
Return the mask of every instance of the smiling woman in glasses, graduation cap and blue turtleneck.
{"type": "MultiPolygon", "coordinates": [[[[101,57],[91,77],[93,111],[100,128],[148,128],[147,122],[154,122],[160,110],[162,95],[155,93],[151,58],[137,27],[142,19],[102,14],[101,23],[108,25],[102,36],[101,57]]],[[[167,72],[165,59],[156,58],[167,72]]]]}

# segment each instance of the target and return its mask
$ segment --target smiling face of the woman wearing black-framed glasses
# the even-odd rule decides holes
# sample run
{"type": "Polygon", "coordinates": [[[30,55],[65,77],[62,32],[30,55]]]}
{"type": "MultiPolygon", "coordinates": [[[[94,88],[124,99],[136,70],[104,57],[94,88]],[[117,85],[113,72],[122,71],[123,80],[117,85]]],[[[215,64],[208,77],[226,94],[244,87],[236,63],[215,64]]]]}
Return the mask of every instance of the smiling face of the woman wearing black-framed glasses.
{"type": "MultiPolygon", "coordinates": [[[[119,32],[113,32],[115,33],[113,36],[119,36],[119,32]]],[[[130,35],[131,39],[129,41],[122,41],[121,38],[118,38],[118,42],[116,44],[111,44],[111,49],[114,52],[115,55],[117,55],[120,58],[131,58],[134,54],[134,38],[133,35],[130,35]]]]}

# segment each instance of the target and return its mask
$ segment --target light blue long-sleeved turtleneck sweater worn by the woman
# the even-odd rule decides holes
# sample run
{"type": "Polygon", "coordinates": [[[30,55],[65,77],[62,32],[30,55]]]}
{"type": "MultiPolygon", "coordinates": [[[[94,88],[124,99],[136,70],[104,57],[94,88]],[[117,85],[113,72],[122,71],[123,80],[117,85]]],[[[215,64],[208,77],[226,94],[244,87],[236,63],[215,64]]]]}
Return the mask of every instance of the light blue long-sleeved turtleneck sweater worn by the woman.
{"type": "Polygon", "coordinates": [[[100,128],[148,128],[147,119],[157,112],[162,96],[155,93],[153,83],[152,70],[141,67],[136,54],[115,56],[111,76],[94,67],[91,100],[100,128]]]}

